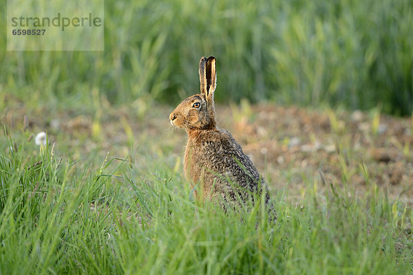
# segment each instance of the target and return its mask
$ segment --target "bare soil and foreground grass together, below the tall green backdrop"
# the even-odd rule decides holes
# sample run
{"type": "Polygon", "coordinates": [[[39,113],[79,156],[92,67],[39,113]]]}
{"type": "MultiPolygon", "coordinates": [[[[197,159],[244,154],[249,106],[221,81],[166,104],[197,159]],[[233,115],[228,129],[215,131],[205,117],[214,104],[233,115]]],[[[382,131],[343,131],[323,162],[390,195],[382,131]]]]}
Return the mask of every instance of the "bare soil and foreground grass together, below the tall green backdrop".
{"type": "Polygon", "coordinates": [[[171,107],[142,116],[101,103],[96,121],[8,102],[2,273],[411,274],[410,119],[218,106],[268,179],[278,215],[268,223],[260,206],[226,214],[193,198],[171,107]]]}

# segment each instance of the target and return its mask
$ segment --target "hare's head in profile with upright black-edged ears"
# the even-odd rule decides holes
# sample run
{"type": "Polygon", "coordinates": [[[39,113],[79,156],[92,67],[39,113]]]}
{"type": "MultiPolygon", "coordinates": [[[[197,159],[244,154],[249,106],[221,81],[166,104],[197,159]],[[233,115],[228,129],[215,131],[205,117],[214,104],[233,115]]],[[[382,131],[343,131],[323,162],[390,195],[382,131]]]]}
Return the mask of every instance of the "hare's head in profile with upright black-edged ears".
{"type": "Polygon", "coordinates": [[[217,87],[215,58],[202,57],[200,60],[201,93],[190,96],[180,102],[169,115],[171,124],[186,131],[215,129],[215,111],[213,92],[217,87]]]}

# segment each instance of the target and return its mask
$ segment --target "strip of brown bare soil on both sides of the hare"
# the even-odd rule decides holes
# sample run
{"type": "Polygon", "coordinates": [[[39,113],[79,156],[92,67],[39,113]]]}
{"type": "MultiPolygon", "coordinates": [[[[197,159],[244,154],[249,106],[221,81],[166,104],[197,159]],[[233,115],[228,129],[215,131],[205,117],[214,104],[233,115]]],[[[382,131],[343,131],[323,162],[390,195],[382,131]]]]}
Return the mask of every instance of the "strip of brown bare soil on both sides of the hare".
{"type": "MultiPolygon", "coordinates": [[[[117,156],[129,150],[130,127],[138,146],[146,144],[147,150],[157,155],[179,159],[186,133],[171,129],[168,116],[172,109],[158,106],[138,115],[132,107],[106,107],[100,116],[100,138],[92,138],[94,115],[70,111],[32,111],[28,114],[28,128],[33,133],[47,130],[50,142],[57,143],[58,133],[67,133],[72,146],[83,147],[83,154],[99,148],[103,155],[114,151],[112,155],[117,156]]],[[[26,113],[24,107],[8,109],[1,121],[13,131],[24,126],[26,113]]],[[[413,203],[411,118],[246,102],[240,106],[218,106],[216,113],[218,126],[233,133],[271,183],[273,192],[286,187],[290,195],[299,196],[305,192],[308,179],[313,179],[319,190],[325,184],[341,185],[346,181],[360,192],[370,182],[388,192],[392,199],[413,203]],[[346,171],[346,178],[342,170],[346,171]]]]}

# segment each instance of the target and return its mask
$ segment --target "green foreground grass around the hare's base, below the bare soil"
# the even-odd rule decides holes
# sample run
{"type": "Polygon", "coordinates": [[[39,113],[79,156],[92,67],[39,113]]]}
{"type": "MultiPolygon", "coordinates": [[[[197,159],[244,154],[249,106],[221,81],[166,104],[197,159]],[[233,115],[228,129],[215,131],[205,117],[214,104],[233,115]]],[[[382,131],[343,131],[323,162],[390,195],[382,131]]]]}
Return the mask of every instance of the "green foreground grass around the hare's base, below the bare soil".
{"type": "Polygon", "coordinates": [[[6,133],[0,137],[2,273],[412,272],[412,212],[379,192],[365,167],[363,195],[350,182],[327,182],[319,192],[323,181],[311,178],[299,199],[277,190],[278,219],[268,223],[260,206],[226,214],[196,201],[171,170],[174,160],[143,148],[74,161],[59,144],[27,142],[28,131],[6,133]]]}

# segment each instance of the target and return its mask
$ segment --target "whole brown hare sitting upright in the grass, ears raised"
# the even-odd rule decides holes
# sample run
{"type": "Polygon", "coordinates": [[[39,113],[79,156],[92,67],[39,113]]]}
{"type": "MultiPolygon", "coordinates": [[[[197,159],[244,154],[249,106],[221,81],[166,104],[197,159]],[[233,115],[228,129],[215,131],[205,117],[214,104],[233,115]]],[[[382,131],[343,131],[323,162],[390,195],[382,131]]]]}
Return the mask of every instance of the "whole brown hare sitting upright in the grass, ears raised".
{"type": "Polygon", "coordinates": [[[231,133],[218,129],[215,122],[215,64],[213,56],[201,58],[200,94],[183,100],[169,115],[171,124],[188,134],[184,175],[193,184],[200,182],[202,199],[216,197],[223,199],[225,205],[239,200],[254,201],[264,191],[267,204],[269,195],[264,179],[231,133]]]}

